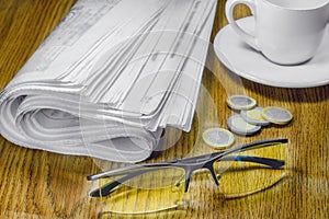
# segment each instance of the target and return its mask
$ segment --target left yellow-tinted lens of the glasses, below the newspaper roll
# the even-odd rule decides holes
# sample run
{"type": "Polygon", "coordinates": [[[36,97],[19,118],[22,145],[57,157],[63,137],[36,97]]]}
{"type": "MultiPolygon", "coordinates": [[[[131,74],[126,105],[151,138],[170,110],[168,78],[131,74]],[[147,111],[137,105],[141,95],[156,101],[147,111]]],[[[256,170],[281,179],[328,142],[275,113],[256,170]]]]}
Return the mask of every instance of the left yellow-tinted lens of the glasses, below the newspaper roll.
{"type": "Polygon", "coordinates": [[[104,201],[103,210],[140,214],[177,207],[182,201],[184,194],[185,171],[179,168],[146,170],[101,178],[101,188],[111,185],[113,182],[121,183],[111,194],[101,197],[104,201]],[[129,175],[135,176],[129,178],[129,175]]]}

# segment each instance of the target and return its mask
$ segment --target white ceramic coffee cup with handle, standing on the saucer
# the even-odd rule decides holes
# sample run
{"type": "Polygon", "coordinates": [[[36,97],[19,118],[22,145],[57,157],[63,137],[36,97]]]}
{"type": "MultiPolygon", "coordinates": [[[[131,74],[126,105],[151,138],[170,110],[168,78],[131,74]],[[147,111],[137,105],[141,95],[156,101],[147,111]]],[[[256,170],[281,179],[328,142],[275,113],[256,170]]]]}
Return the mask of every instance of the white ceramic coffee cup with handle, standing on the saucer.
{"type": "Polygon", "coordinates": [[[311,59],[321,43],[329,0],[228,0],[225,12],[235,32],[252,48],[275,64],[297,65],[311,59]],[[236,23],[232,12],[237,4],[250,8],[254,36],[236,23]]]}

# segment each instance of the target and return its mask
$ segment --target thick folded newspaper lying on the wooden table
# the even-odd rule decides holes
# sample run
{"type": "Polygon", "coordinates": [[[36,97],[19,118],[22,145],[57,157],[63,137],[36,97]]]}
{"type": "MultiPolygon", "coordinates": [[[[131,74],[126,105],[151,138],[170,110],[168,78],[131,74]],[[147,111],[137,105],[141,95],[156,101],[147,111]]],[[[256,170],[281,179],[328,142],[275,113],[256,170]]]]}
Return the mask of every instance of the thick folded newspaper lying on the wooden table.
{"type": "Polygon", "coordinates": [[[216,0],[79,0],[0,94],[15,145],[120,162],[189,131],[216,0]]]}

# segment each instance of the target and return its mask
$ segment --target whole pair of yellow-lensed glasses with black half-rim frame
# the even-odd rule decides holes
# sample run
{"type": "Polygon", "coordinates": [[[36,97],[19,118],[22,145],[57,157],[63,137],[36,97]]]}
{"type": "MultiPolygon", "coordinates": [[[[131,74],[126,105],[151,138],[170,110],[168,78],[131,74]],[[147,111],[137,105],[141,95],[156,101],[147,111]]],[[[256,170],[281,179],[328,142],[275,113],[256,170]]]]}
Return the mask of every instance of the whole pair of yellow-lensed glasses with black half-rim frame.
{"type": "Polygon", "coordinates": [[[262,140],[226,151],[163,163],[137,164],[88,176],[99,180],[90,196],[104,201],[104,211],[144,214],[183,203],[193,172],[207,170],[227,198],[263,191],[285,175],[287,139],[262,140]]]}

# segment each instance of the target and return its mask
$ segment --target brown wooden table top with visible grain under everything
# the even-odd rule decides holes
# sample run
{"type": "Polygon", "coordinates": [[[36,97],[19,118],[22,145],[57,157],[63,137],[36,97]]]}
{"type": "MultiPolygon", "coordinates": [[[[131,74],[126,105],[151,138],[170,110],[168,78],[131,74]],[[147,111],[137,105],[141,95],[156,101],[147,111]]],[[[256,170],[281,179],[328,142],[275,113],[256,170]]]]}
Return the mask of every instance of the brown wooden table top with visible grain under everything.
{"type": "MultiPolygon", "coordinates": [[[[37,46],[67,13],[75,0],[0,0],[0,88],[12,79],[37,46]]],[[[218,1],[213,28],[227,24],[225,1],[218,1]]],[[[246,16],[243,7],[236,16],[246,16]]],[[[223,200],[208,176],[192,178],[186,209],[145,216],[101,214],[89,198],[95,183],[87,175],[100,171],[91,158],[25,149],[0,138],[0,218],[329,218],[329,85],[280,89],[240,79],[229,72],[209,50],[193,128],[189,134],[169,130],[170,149],[156,160],[212,152],[200,140],[205,122],[226,127],[232,112],[225,100],[245,93],[261,106],[290,110],[294,120],[270,126],[252,137],[236,137],[236,143],[286,137],[287,161],[293,172],[279,185],[245,198],[223,200]],[[205,97],[204,97],[205,96],[205,97]],[[213,104],[213,105],[212,105],[213,104]]],[[[329,70],[328,70],[329,73],[329,70]]]]}

